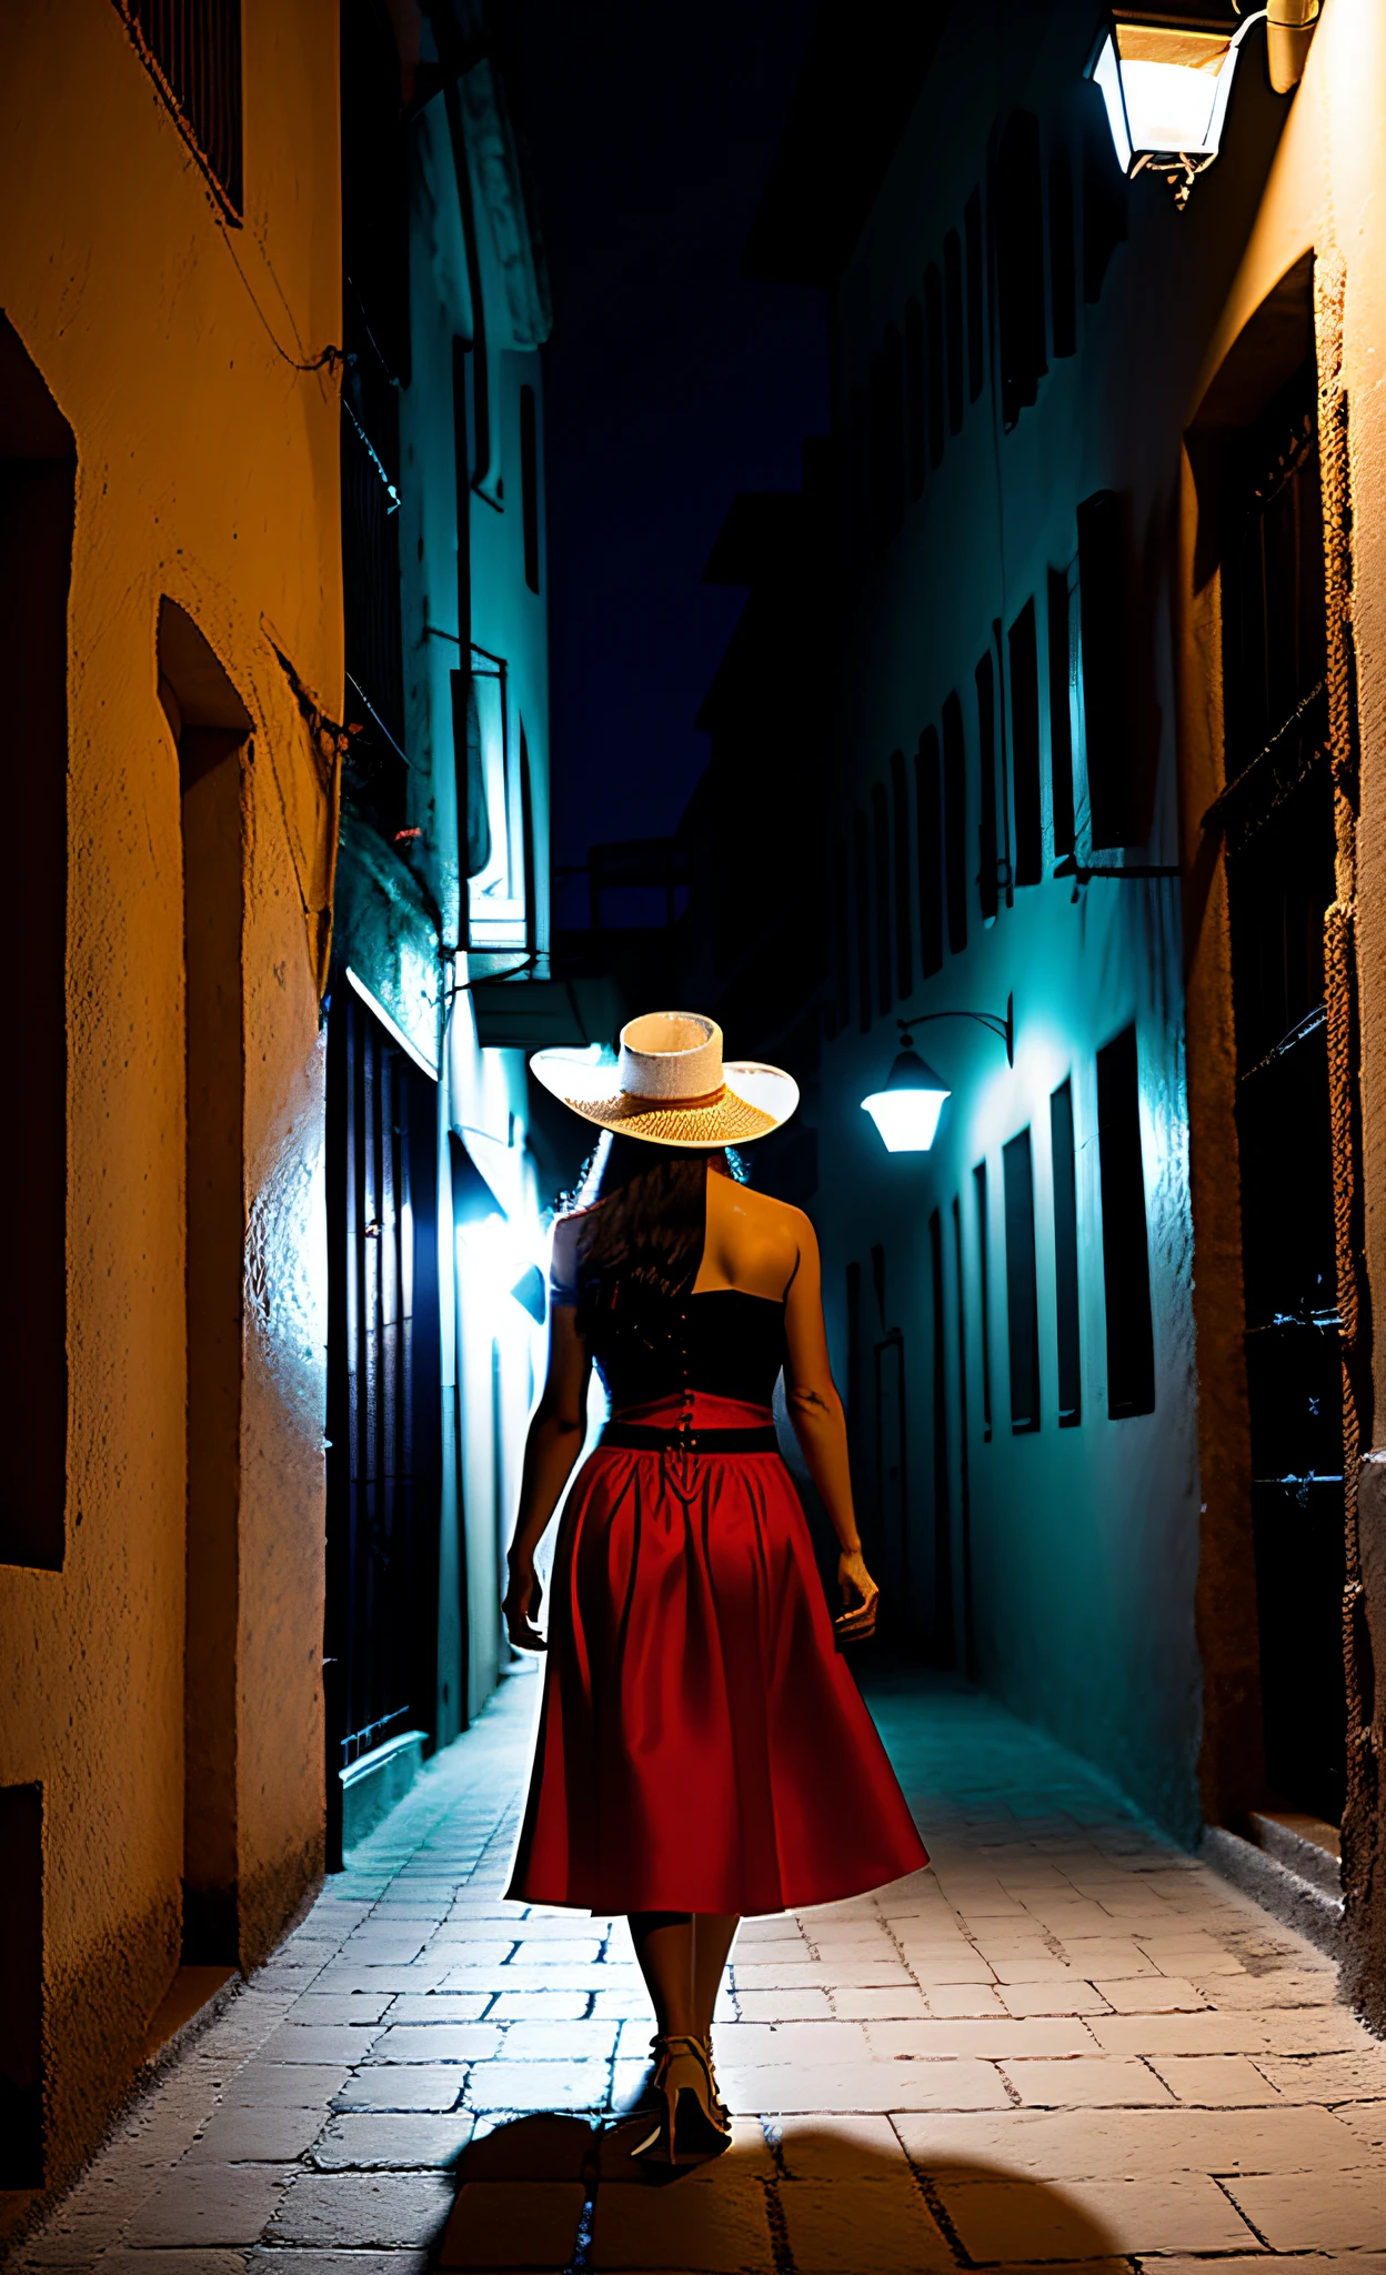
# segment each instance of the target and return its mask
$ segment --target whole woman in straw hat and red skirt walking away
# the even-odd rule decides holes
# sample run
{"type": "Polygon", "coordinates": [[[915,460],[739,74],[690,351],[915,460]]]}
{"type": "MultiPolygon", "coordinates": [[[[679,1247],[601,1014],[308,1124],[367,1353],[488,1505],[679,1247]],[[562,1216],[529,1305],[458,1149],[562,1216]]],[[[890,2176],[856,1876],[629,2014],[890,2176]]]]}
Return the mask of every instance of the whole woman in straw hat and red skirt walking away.
{"type": "Polygon", "coordinates": [[[510,1640],[548,1647],[510,1895],[628,1916],[658,2029],[660,2123],[635,2154],[690,2164],[728,2143],[710,2032],[742,1913],[828,1904],[929,1859],[835,1649],[872,1633],[878,1590],[817,1240],[726,1156],[799,1092],[776,1067],[724,1069],[721,1028],[687,1012],[624,1028],[619,1094],[610,1067],[560,1051],[533,1067],[617,1135],[596,1206],[553,1235],[548,1379],[505,1592],[510,1640]],[[535,1549],[583,1447],[592,1360],[612,1420],[564,1508],[544,1645],[535,1549]],[[781,1367],[840,1542],[838,1622],[776,1451],[781,1367]]]}

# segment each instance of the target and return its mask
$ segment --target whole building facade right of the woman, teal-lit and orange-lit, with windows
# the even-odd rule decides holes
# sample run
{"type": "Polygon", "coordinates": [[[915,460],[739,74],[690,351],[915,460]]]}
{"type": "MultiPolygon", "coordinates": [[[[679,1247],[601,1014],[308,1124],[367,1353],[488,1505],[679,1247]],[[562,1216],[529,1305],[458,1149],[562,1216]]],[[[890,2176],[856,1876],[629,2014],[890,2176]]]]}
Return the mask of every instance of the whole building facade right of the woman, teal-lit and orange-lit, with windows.
{"type": "Polygon", "coordinates": [[[1381,23],[1327,0],[1284,91],[1254,25],[1193,182],[1124,177],[1083,7],[833,25],[746,266],[831,309],[815,1213],[872,1554],[899,1640],[1384,2016],[1381,23]],[[906,1035],[949,1099],[888,1153],[906,1035]]]}

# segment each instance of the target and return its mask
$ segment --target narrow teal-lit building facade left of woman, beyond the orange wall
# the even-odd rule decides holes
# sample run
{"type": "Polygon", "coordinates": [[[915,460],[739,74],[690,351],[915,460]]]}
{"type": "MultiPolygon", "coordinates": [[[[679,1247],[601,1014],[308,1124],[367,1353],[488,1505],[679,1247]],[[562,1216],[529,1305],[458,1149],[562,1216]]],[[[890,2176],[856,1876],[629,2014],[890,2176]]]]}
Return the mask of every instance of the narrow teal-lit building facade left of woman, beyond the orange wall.
{"type": "Polygon", "coordinates": [[[332,1856],[508,1658],[503,1552],[544,1322],[526,1044],[546,1019],[571,1028],[548,983],[548,293],[503,20],[348,0],[341,105],[332,1856]]]}

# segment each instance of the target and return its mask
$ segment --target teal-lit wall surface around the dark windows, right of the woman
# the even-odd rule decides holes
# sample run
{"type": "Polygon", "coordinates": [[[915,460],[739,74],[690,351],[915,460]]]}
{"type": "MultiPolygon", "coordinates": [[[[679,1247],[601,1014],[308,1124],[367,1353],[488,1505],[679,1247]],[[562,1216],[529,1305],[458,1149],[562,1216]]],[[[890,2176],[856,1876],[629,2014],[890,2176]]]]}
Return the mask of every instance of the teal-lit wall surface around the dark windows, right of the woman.
{"type": "MultiPolygon", "coordinates": [[[[1072,150],[1074,202],[1083,225],[1083,121],[1092,89],[1083,66],[1092,34],[1083,7],[1001,5],[949,14],[919,105],[833,293],[835,421],[851,432],[853,391],[869,387],[885,328],[906,321],[926,264],[942,264],[944,232],[963,228],[974,187],[983,212],[997,139],[1015,107],[1040,123],[1042,228],[1049,230],[1049,152],[1072,150]]],[[[904,1590],[910,1647],[956,1638],[956,1663],[1010,1706],[1047,1724],[1097,1761],[1183,1838],[1202,1822],[1202,1661],[1195,1636],[1199,1574],[1199,1440],[1193,1313],[1193,1208],[1188,1176],[1183,903],[1179,880],[1092,878],[1074,894],[1054,878],[1049,774],[1047,587],[1072,573],[1076,507],[1095,491],[1129,498],[1138,610],[1149,685],[1138,730],[1149,735],[1154,799],[1149,833],[1120,851],[1090,853],[1081,673],[1072,692],[1079,858],[1174,867],[1181,860],[1177,721],[1188,673],[1177,667],[1186,589],[1181,521],[1183,430],[1199,396],[1286,105],[1270,96],[1261,55],[1247,55],[1234,91],[1224,157],[1195,187],[1188,214],[1152,177],[1122,191],[1111,148],[1111,193],[1127,202],[1099,298],[1083,298],[1076,246],[1076,341],[1056,353],[1038,400],[1004,430],[997,384],[997,303],[990,239],[985,257],[985,382],[965,400],[960,432],[947,432],[924,491],[906,503],[885,546],[856,544],[849,573],[838,705],[838,799],[833,839],[851,849],[853,814],[872,821],[872,789],[890,792],[890,758],[906,767],[919,735],[940,726],[949,692],[967,730],[967,949],[947,953],[919,983],[917,794],[910,783],[910,926],[915,985],[858,1028],[858,905],[847,876],[849,944],[840,974],[847,1021],[826,1042],[822,1083],[822,1183],[817,1217],[835,1360],[849,1365],[847,1269],[860,1267],[858,1476],[867,1529],[876,1499],[876,1345],[904,1333],[908,1410],[908,1583],[899,1556],[881,1554],[904,1590]],[[1036,601],[1040,644],[1042,883],[1001,890],[983,924],[979,869],[979,712],[974,669],[1036,601]],[[992,626],[1001,626],[997,642],[992,626]],[[1001,1012],[1015,996],[1015,1067],[1004,1046],[963,1021],[922,1026],[917,1044],[951,1083],[940,1135],[926,1156],[888,1156],[858,1101],[881,1087],[894,1058],[897,1017],[951,1008],[1001,1012]],[[1102,1197],[1097,1160],[1097,1051],[1136,1024],[1140,1142],[1154,1320],[1154,1413],[1108,1417],[1102,1197]],[[1081,1263],[1079,1426],[1058,1426],[1054,1203],[1049,1099],[1072,1081],[1081,1263]],[[1006,1340],[1006,1226],[1001,1147],[1024,1131],[1033,1144],[1036,1269],[1040,1317],[1040,1426],[1010,1429],[1006,1340]],[[990,1194],[992,1433],[981,1426],[981,1283],[974,1167],[990,1194]],[[960,1203],[960,1290],[954,1247],[960,1203]],[[947,1490],[942,1561],[951,1604],[938,1599],[935,1335],[929,1215],[942,1224],[942,1390],[947,1490]],[[885,1251],[885,1310],[876,1306],[872,1247],[885,1251]],[[958,1294],[963,1338],[958,1338],[958,1294]],[[960,1360],[967,1372],[970,1542],[963,1538],[960,1360]],[[951,1529],[949,1529],[951,1524],[951,1529]]],[[[1095,221],[1088,221],[1095,228],[1095,221]]],[[[1045,234],[1051,307],[1051,246],[1045,234]]],[[[847,441],[851,453],[851,441],[847,441]]],[[[851,478],[849,478],[851,487],[851,478]]],[[[1076,662],[1076,660],[1074,660],[1076,662]]],[[[1010,771],[997,764],[1004,799],[1010,771]]],[[[894,821],[892,821],[894,833],[894,821]]],[[[1004,805],[1004,839],[1015,821],[1004,805]]],[[[894,839],[892,839],[894,842],[894,839]]],[[[872,849],[874,860],[874,849],[872,849]]],[[[876,937],[876,890],[867,924],[876,937]]],[[[897,921],[892,887],[892,926],[897,921]]],[[[892,990],[894,992],[894,990],[892,990]]],[[[831,1021],[833,1026],[835,1021],[831,1021]]],[[[890,1415],[888,1415],[890,1426],[890,1415]]],[[[1252,1572],[1243,1574],[1252,1590],[1252,1572]]]]}

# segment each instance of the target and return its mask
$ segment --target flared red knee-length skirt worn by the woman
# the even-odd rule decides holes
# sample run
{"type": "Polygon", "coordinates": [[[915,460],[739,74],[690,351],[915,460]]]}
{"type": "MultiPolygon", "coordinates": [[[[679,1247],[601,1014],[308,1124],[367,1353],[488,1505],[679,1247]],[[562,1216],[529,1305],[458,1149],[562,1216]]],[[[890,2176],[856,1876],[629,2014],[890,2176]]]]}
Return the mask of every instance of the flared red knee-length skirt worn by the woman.
{"type": "MultiPolygon", "coordinates": [[[[703,1429],[769,1422],[699,1397],[703,1429]]],[[[621,1420],[671,1426],[676,1404],[621,1420]]],[[[767,1913],[929,1863],[778,1454],[599,1449],[553,1558],[523,1904],[767,1913]]]]}

